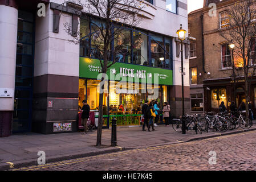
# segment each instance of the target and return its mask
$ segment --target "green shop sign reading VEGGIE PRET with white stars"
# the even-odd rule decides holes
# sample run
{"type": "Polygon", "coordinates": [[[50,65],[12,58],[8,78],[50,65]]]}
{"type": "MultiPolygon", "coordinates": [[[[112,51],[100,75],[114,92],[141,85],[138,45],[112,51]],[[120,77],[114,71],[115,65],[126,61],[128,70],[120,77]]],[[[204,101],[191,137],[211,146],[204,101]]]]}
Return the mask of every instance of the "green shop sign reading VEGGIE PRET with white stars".
{"type": "MultiPolygon", "coordinates": [[[[79,77],[97,79],[101,71],[100,61],[80,57],[79,77]]],[[[173,71],[170,69],[152,68],[141,65],[115,63],[107,71],[108,80],[151,82],[160,85],[173,85],[173,71]]]]}

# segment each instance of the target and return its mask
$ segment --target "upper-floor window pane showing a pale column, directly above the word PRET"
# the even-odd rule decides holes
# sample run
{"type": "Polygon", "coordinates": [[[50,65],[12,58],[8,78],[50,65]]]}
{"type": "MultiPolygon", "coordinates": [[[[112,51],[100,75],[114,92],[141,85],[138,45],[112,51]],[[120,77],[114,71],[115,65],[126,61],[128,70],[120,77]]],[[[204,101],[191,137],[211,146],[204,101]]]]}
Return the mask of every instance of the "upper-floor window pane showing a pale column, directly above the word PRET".
{"type": "Polygon", "coordinates": [[[133,31],[133,63],[148,65],[148,36],[133,31]]]}

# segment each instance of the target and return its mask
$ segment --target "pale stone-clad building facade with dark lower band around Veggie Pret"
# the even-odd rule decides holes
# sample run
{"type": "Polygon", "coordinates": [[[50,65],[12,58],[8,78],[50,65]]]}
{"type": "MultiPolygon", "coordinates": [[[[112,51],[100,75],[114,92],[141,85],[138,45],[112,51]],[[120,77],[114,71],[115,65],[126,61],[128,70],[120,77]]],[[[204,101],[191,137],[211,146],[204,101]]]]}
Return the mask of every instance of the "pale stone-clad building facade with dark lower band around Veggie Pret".
{"type": "MultiPolygon", "coordinates": [[[[64,30],[64,24],[72,24],[74,20],[79,22],[82,15],[68,10],[65,2],[0,0],[1,137],[27,131],[51,134],[78,129],[80,46],[70,42],[73,37],[64,30]],[[46,16],[38,16],[38,10],[44,7],[42,4],[38,6],[39,3],[45,5],[46,16]],[[59,130],[55,131],[55,127],[59,130]],[[68,130],[63,130],[64,127],[68,130]]],[[[168,87],[166,101],[171,105],[172,117],[179,117],[182,113],[181,56],[180,44],[175,38],[180,24],[188,30],[187,1],[143,3],[147,5],[144,19],[135,28],[150,32],[148,35],[158,34],[170,39],[172,57],[168,70],[172,70],[169,78],[172,84],[168,87]]],[[[184,59],[184,67],[185,109],[188,113],[188,59],[184,59]]]]}

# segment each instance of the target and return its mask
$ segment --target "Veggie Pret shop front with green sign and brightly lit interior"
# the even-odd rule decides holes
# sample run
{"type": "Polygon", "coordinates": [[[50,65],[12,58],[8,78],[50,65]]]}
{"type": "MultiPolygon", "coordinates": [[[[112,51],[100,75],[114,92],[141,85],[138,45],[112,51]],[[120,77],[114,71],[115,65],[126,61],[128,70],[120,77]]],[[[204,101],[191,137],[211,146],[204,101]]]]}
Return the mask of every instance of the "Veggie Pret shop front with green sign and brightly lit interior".
{"type": "MultiPolygon", "coordinates": [[[[111,119],[117,118],[117,126],[141,125],[141,107],[146,100],[157,100],[160,109],[170,101],[173,72],[170,69],[115,63],[108,68],[105,81],[100,81],[100,61],[80,57],[79,108],[86,100],[90,105],[90,121],[97,127],[99,96],[103,97],[103,128],[109,128],[111,119]],[[103,89],[104,88],[104,89],[103,89]]],[[[159,123],[163,123],[160,114],[159,123]]],[[[79,128],[83,126],[80,125],[79,128]]]]}

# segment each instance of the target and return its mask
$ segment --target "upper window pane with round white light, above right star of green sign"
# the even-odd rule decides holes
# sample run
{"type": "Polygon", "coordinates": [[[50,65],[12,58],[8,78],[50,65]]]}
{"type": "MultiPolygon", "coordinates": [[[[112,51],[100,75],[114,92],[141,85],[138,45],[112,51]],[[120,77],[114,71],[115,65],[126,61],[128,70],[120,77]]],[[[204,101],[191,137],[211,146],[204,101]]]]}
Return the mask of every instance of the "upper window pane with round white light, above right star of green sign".
{"type": "Polygon", "coordinates": [[[151,35],[151,65],[152,67],[164,68],[164,40],[162,36],[151,35]],[[160,46],[161,45],[161,46],[160,46]]]}

